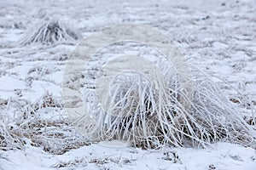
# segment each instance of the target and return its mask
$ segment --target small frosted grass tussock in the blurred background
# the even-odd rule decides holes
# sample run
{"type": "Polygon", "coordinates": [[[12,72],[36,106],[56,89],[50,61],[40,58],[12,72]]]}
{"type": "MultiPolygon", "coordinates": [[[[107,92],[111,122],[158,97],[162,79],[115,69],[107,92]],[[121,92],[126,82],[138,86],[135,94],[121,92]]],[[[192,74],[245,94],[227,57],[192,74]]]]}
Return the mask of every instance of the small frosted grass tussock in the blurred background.
{"type": "Polygon", "coordinates": [[[40,20],[29,28],[26,35],[20,39],[20,45],[42,43],[50,45],[55,42],[73,42],[79,39],[79,34],[60,20],[40,20]]]}

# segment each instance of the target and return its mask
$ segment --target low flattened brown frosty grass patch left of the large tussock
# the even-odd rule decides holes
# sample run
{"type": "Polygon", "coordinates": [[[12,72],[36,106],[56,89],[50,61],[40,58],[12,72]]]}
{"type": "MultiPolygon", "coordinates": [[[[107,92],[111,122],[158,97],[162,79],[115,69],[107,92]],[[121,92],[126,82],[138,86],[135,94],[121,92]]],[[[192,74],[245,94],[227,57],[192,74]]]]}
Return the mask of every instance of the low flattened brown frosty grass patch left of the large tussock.
{"type": "Polygon", "coordinates": [[[63,154],[89,144],[69,125],[60,101],[51,94],[44,94],[34,104],[15,99],[3,104],[4,109],[15,108],[12,111],[15,115],[10,116],[8,110],[0,115],[0,150],[23,149],[31,144],[53,154],[63,154]]]}

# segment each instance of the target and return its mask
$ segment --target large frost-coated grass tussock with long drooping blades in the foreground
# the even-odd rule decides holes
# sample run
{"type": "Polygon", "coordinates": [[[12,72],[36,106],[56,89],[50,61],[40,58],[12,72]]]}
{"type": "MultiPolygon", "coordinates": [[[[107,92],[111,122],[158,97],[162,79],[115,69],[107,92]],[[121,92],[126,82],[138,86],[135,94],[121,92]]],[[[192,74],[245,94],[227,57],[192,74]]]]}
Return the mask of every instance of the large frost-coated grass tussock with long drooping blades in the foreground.
{"type": "Polygon", "coordinates": [[[255,147],[255,126],[244,121],[209,76],[192,69],[187,92],[175,70],[159,66],[153,75],[120,73],[102,98],[102,92],[84,93],[84,100],[92,99],[92,113],[91,119],[79,118],[79,128],[92,140],[119,139],[142,148],[206,147],[217,141],[255,147]]]}

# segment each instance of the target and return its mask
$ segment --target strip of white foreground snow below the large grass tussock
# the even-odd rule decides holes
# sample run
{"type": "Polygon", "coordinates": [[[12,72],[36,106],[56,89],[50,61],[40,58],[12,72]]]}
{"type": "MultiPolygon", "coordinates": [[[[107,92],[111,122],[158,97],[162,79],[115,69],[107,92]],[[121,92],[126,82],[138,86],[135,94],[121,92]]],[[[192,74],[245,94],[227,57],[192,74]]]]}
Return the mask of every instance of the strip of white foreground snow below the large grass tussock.
{"type": "Polygon", "coordinates": [[[63,155],[50,155],[40,148],[0,152],[3,169],[255,169],[255,151],[241,145],[218,143],[208,149],[169,148],[141,150],[91,144],[63,155]],[[161,152],[163,151],[163,152],[161,152]],[[175,156],[176,158],[175,158],[175,156]],[[253,161],[254,160],[254,161],[253,161]]]}

